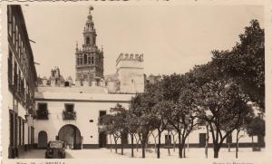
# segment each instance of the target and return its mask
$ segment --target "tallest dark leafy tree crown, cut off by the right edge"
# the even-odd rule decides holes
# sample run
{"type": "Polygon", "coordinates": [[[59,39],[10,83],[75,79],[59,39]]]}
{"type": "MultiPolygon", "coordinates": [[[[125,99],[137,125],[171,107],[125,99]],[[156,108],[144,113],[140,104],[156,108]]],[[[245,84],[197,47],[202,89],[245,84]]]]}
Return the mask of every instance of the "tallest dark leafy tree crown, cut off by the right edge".
{"type": "Polygon", "coordinates": [[[213,51],[213,63],[218,63],[222,73],[232,77],[265,111],[265,31],[257,20],[252,20],[239,35],[240,43],[229,51],[213,51]]]}

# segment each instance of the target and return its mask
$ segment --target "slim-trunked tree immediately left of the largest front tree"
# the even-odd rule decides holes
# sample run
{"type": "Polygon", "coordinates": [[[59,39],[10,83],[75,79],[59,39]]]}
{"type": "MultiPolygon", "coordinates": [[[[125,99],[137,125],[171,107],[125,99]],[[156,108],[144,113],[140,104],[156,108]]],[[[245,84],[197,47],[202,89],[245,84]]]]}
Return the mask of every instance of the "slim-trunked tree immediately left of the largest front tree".
{"type": "MultiPolygon", "coordinates": [[[[189,133],[198,125],[192,110],[193,92],[190,92],[187,78],[188,75],[174,73],[163,76],[162,80],[162,95],[166,103],[161,104],[161,108],[166,110],[168,122],[178,132],[180,158],[182,158],[182,150],[185,149],[185,141],[189,133]]],[[[185,151],[183,157],[185,157],[185,151]]]]}

